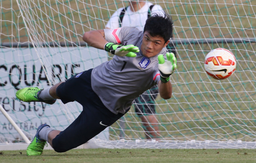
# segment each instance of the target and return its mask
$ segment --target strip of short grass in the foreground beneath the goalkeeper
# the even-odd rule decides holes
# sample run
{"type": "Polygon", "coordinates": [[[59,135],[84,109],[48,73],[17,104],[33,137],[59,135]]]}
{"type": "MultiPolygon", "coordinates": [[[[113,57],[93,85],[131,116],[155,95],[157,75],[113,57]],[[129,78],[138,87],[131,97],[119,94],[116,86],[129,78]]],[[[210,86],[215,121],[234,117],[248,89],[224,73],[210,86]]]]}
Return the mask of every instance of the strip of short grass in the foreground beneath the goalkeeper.
{"type": "Polygon", "coordinates": [[[0,151],[1,163],[255,163],[255,149],[79,149],[64,153],[44,150],[0,151]]]}

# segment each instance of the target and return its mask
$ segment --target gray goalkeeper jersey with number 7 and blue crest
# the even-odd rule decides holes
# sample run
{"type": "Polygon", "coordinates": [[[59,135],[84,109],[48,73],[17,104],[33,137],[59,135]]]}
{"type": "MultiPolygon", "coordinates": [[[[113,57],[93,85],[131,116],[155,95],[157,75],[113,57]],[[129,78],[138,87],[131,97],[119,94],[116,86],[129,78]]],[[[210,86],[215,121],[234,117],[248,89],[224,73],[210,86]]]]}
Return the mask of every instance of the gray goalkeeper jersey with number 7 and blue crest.
{"type": "MultiPolygon", "coordinates": [[[[108,42],[141,47],[143,31],[135,27],[104,29],[108,42]]],[[[166,58],[167,49],[159,54],[166,58]]],[[[125,113],[140,94],[160,81],[158,55],[147,58],[140,52],[136,57],[114,56],[113,60],[95,67],[91,74],[93,91],[113,113],[125,113]]]]}

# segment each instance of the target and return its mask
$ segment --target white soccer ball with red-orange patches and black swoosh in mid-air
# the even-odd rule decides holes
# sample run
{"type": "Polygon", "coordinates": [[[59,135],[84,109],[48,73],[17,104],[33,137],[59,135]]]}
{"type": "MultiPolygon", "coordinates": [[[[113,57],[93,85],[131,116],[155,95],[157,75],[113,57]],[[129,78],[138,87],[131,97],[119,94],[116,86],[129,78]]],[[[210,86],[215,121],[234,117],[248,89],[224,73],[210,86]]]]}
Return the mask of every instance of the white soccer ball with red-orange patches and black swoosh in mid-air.
{"type": "Polygon", "coordinates": [[[223,80],[234,74],[236,58],[224,48],[210,51],[204,60],[204,69],[208,75],[217,80],[223,80]]]}

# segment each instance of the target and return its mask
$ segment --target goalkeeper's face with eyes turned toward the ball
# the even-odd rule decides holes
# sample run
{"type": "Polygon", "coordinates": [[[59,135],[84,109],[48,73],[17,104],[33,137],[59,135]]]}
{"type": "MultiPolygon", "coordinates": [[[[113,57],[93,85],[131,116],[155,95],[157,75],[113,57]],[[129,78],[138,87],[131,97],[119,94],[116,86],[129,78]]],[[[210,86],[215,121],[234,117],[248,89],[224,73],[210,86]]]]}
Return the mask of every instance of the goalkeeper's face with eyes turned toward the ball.
{"type": "Polygon", "coordinates": [[[143,34],[141,52],[144,56],[150,58],[156,56],[160,51],[168,45],[170,41],[165,43],[161,36],[151,36],[147,31],[143,34]]]}

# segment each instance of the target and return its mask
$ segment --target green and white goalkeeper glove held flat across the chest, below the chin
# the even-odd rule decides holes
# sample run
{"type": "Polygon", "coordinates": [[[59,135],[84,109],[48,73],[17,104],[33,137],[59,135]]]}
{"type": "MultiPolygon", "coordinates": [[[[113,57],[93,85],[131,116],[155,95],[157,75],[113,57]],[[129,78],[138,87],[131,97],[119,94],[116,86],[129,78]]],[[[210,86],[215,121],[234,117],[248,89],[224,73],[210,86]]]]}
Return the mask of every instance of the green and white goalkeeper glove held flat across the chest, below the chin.
{"type": "Polygon", "coordinates": [[[112,54],[117,56],[128,56],[128,57],[135,57],[136,54],[139,52],[139,48],[134,45],[115,45],[114,43],[108,42],[104,46],[105,51],[108,51],[112,54]]]}

